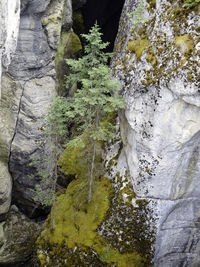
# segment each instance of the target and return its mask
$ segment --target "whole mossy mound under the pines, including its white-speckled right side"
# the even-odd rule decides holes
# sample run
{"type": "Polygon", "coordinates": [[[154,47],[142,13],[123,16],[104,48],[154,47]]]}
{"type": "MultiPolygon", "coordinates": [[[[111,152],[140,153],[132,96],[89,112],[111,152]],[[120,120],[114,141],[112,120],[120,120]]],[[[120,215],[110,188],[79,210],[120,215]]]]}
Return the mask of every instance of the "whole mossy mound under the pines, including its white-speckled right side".
{"type": "Polygon", "coordinates": [[[136,209],[130,207],[130,201],[125,204],[122,196],[128,192],[130,197],[130,190],[121,190],[118,180],[118,193],[110,180],[96,181],[90,204],[87,182],[77,179],[70,183],[56,202],[55,230],[51,229],[50,215],[37,240],[41,266],[151,266],[147,250],[150,251],[152,238],[147,229],[141,235],[145,229],[142,225],[148,226],[147,203],[140,202],[136,209]],[[142,247],[134,235],[138,240],[143,237],[138,241],[142,247]],[[146,247],[145,235],[149,238],[146,247]]]}

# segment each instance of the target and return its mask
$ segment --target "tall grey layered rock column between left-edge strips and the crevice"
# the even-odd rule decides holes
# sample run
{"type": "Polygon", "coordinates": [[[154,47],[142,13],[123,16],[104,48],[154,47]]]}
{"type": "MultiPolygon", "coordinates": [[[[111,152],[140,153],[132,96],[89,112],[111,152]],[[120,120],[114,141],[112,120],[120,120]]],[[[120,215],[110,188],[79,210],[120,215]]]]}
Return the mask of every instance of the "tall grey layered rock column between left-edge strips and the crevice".
{"type": "MultiPolygon", "coordinates": [[[[31,189],[39,182],[31,157],[45,157],[48,146],[42,131],[47,107],[56,96],[54,58],[63,25],[65,0],[22,1],[17,50],[9,73],[18,81],[18,114],[11,144],[9,168],[13,201],[30,217],[43,210],[31,189]],[[34,179],[30,179],[34,175],[34,179]]],[[[42,163],[41,163],[42,164],[42,163]]]]}

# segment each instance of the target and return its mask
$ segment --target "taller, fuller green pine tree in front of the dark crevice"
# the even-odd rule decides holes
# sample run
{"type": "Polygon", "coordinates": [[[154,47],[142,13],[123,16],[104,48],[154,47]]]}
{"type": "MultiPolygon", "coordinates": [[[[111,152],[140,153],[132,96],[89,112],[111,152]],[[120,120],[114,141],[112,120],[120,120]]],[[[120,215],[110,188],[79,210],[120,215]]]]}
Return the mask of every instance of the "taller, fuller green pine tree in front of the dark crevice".
{"type": "Polygon", "coordinates": [[[88,173],[88,202],[92,197],[97,142],[114,137],[114,125],[105,123],[105,119],[109,113],[125,106],[124,100],[118,94],[120,83],[112,78],[107,66],[111,53],[103,51],[109,43],[103,43],[101,35],[100,28],[95,24],[88,34],[82,35],[87,41],[85,55],[78,60],[66,60],[72,71],[66,77],[66,86],[74,86],[76,83],[78,88],[68,116],[80,126],[81,133],[87,131],[90,139],[88,151],[92,151],[88,173]]]}

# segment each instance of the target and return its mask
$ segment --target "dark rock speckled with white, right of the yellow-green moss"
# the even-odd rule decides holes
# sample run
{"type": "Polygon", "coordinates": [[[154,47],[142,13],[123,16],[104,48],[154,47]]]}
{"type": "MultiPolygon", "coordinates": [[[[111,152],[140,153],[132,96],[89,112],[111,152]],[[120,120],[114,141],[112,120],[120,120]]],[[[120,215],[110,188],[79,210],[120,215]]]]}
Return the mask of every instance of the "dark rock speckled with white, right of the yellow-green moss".
{"type": "Polygon", "coordinates": [[[118,174],[117,181],[115,179],[111,207],[99,231],[102,237],[122,255],[132,253],[140,255],[136,265],[131,266],[151,266],[153,253],[151,245],[154,238],[154,231],[149,228],[152,220],[151,211],[146,200],[141,200],[140,205],[137,203],[134,207],[131,204],[134,197],[128,176],[124,180],[118,174]],[[125,197],[124,194],[127,196],[125,197]]]}

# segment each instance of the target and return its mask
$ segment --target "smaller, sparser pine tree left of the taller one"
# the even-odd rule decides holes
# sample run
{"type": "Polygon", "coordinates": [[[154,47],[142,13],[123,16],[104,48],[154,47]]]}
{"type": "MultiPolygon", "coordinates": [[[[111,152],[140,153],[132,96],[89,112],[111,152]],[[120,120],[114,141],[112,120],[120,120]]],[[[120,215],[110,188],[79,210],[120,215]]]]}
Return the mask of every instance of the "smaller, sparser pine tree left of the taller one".
{"type": "Polygon", "coordinates": [[[56,97],[48,109],[48,115],[44,120],[43,129],[46,134],[48,155],[44,158],[32,157],[30,165],[41,166],[36,170],[36,176],[40,177],[40,183],[32,190],[34,200],[43,206],[52,206],[52,228],[55,228],[55,200],[56,183],[58,178],[57,161],[63,151],[62,143],[68,137],[69,118],[65,115],[68,102],[62,97],[56,97]]]}

